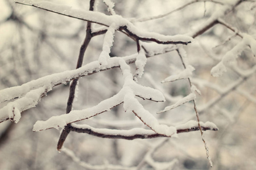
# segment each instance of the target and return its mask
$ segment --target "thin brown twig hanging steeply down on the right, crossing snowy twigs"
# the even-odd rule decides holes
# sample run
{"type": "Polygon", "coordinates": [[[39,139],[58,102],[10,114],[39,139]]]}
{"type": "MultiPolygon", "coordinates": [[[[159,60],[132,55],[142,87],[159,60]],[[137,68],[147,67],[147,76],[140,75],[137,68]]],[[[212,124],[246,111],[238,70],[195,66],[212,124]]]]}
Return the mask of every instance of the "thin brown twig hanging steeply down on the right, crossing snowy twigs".
{"type": "MultiPolygon", "coordinates": [[[[177,51],[177,53],[179,54],[179,57],[180,57],[180,59],[181,59],[181,62],[182,62],[182,64],[183,64],[184,69],[186,69],[185,62],[184,62],[184,60],[183,60],[182,55],[180,54],[179,49],[177,49],[176,51],[177,51]]],[[[190,79],[190,78],[188,78],[188,82],[189,82],[189,86],[192,87],[192,83],[191,83],[191,79],[190,79]]],[[[202,140],[203,140],[203,142],[204,142],[204,147],[205,147],[205,151],[206,151],[206,154],[207,154],[207,159],[209,160],[210,167],[213,167],[213,165],[212,165],[212,160],[210,159],[210,156],[209,156],[209,149],[208,149],[207,143],[205,142],[203,130],[202,130],[201,125],[200,125],[199,113],[198,113],[197,108],[196,108],[196,101],[195,101],[195,99],[193,99],[192,101],[193,101],[193,105],[194,105],[194,110],[195,110],[195,112],[196,112],[197,124],[198,124],[199,129],[200,129],[200,133],[201,133],[202,140]]]]}

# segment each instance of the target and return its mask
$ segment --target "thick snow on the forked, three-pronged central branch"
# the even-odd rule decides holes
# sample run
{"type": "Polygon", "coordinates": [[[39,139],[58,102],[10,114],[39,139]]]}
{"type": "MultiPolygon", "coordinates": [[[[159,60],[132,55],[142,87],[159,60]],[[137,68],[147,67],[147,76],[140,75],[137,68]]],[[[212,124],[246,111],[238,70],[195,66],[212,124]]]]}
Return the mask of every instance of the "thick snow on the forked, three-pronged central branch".
{"type": "Polygon", "coordinates": [[[34,131],[46,130],[49,128],[64,128],[65,125],[84,120],[97,114],[109,111],[111,108],[123,104],[125,111],[133,112],[138,116],[141,121],[146,124],[149,128],[159,134],[164,134],[171,136],[176,134],[176,129],[174,127],[168,127],[167,125],[160,125],[158,120],[152,116],[152,114],[139,103],[135,96],[142,97],[143,99],[149,99],[153,101],[164,101],[163,94],[150,87],[143,87],[133,80],[133,75],[130,71],[130,66],[127,65],[126,61],[122,58],[111,58],[110,61],[119,62],[120,68],[123,73],[124,84],[123,88],[118,92],[118,94],[101,101],[98,105],[87,108],[82,111],[71,111],[69,114],[63,114],[60,116],[53,116],[47,121],[37,121],[34,125],[34,131]]]}

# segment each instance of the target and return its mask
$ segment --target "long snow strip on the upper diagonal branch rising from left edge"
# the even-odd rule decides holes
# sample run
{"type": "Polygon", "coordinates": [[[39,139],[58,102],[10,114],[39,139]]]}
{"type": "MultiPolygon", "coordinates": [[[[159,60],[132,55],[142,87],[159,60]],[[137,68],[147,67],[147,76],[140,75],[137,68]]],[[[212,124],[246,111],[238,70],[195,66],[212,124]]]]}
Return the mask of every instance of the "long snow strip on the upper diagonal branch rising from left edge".
{"type": "MultiPolygon", "coordinates": [[[[122,57],[127,63],[135,62],[137,54],[132,54],[131,56],[122,57]]],[[[117,58],[117,57],[113,57],[117,58]]],[[[55,87],[59,84],[66,84],[72,79],[79,78],[81,76],[91,75],[100,71],[112,69],[114,67],[119,67],[119,63],[116,60],[109,61],[108,66],[101,67],[98,61],[90,62],[79,69],[63,71],[61,73],[55,73],[42,78],[32,80],[31,82],[24,83],[21,86],[15,86],[10,88],[5,88],[0,90],[0,102],[7,100],[12,100],[19,98],[27,94],[27,92],[34,90],[39,87],[49,87],[46,89],[46,92],[51,91],[52,87],[55,87]],[[100,69],[99,69],[100,68],[100,69]]]]}

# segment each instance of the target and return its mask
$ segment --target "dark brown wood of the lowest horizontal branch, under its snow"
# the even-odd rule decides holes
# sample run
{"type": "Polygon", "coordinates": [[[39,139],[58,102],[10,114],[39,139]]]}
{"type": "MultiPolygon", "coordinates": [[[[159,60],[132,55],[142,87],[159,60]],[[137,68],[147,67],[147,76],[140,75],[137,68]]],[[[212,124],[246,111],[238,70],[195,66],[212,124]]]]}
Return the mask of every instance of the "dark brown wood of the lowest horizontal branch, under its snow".
{"type": "MultiPolygon", "coordinates": [[[[202,130],[213,130],[213,131],[218,130],[216,128],[210,128],[210,127],[205,127],[205,126],[201,126],[201,129],[202,130]]],[[[158,133],[154,133],[154,134],[134,134],[134,135],[104,134],[104,133],[99,133],[99,132],[94,131],[94,130],[89,129],[89,128],[76,128],[76,127],[73,127],[72,125],[71,125],[70,130],[75,131],[77,133],[87,133],[87,134],[94,135],[95,137],[99,137],[99,138],[110,138],[110,139],[133,140],[133,139],[150,139],[150,138],[168,137],[166,135],[158,134],[158,133]]],[[[185,133],[185,132],[197,131],[197,130],[200,130],[199,126],[194,126],[192,128],[189,128],[189,129],[177,129],[177,133],[185,133]]]]}

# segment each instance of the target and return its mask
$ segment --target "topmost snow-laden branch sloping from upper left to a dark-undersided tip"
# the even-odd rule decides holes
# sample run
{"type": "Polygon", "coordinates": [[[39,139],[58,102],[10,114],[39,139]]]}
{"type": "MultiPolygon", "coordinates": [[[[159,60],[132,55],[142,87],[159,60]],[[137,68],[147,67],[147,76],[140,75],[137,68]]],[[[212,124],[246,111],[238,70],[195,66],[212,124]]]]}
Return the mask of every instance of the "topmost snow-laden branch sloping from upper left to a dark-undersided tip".
{"type": "Polygon", "coordinates": [[[118,25],[120,31],[126,32],[126,35],[130,37],[137,37],[137,39],[143,41],[155,41],[159,44],[187,45],[193,40],[192,37],[185,35],[166,36],[155,32],[142,31],[141,29],[135,27],[133,23],[129,22],[129,20],[122,18],[121,15],[105,15],[101,12],[74,9],[69,6],[57,5],[55,3],[46,1],[18,0],[15,2],[23,5],[38,7],[43,10],[54,12],[56,14],[69,16],[71,18],[105,25],[107,27],[109,27],[112,23],[115,23],[118,25]]]}

